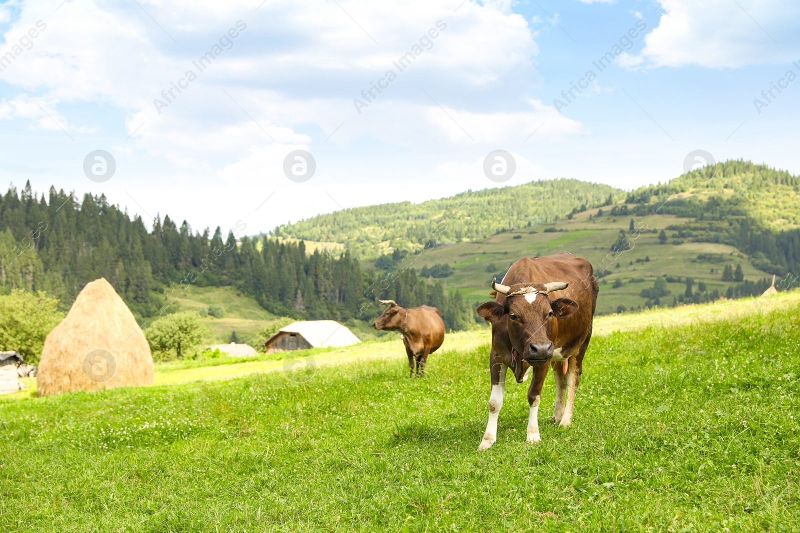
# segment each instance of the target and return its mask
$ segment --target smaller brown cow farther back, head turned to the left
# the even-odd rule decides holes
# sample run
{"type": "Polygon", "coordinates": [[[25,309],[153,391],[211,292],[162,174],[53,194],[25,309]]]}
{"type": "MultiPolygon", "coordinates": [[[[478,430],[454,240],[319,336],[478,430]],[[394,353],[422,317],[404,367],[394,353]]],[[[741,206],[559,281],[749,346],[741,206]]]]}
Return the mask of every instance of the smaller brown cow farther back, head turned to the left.
{"type": "Polygon", "coordinates": [[[400,332],[402,344],[406,345],[410,377],[414,377],[414,358],[417,360],[417,376],[424,376],[428,356],[438,350],[445,340],[445,323],[439,316],[439,310],[427,305],[406,309],[394,300],[378,301],[388,307],[372,325],[375,329],[400,332]]]}

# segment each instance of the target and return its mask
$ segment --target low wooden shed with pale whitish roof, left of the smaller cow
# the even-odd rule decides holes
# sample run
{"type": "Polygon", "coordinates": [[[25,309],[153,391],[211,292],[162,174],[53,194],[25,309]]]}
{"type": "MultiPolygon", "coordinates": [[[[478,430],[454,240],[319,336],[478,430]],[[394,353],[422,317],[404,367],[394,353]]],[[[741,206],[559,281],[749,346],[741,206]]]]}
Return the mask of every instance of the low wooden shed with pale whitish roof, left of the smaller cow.
{"type": "Polygon", "coordinates": [[[266,352],[286,352],[309,348],[339,348],[360,344],[361,340],[335,320],[300,320],[289,324],[266,340],[266,352]]]}

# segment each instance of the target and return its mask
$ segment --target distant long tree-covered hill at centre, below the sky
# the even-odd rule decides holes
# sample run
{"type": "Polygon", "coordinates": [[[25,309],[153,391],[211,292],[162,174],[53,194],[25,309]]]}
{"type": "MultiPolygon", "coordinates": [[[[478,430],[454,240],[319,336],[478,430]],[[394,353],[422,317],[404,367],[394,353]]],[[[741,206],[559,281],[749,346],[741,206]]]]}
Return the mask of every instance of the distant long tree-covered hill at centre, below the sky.
{"type": "Polygon", "coordinates": [[[413,249],[431,240],[483,240],[502,230],[554,221],[581,206],[608,205],[625,197],[622,189],[610,185],[565,178],[531,181],[419,204],[404,201],[344,209],[279,226],[274,234],[339,242],[357,257],[371,257],[378,255],[380,243],[413,249]]]}

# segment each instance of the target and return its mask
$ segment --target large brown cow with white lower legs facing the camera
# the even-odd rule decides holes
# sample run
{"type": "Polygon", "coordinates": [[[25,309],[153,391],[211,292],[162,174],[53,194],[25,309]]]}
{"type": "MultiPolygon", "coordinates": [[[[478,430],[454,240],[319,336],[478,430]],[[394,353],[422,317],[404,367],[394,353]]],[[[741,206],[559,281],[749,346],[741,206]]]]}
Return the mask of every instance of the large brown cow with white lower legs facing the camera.
{"type": "Polygon", "coordinates": [[[478,450],[497,440],[498,416],[510,367],[518,383],[530,371],[528,389],[530,418],[527,442],[538,442],[538,410],[542,384],[549,364],[555,374],[555,408],[551,424],[572,423],[575,393],[581,379],[583,354],[592,336],[598,282],[592,265],[570,253],[547,257],[523,257],[511,265],[502,280],[492,280],[497,301],[476,311],[492,324],[489,354],[492,390],[489,422],[478,450]],[[550,293],[559,291],[558,299],[550,293]],[[566,397],[566,402],[565,402],[566,397]]]}

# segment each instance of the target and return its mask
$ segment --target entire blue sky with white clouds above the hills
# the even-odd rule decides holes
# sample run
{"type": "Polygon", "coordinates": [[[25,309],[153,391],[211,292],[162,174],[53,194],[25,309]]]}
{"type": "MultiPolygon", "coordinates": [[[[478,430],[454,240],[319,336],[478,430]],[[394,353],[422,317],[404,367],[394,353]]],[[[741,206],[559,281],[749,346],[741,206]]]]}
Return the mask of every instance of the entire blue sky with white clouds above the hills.
{"type": "Polygon", "coordinates": [[[800,172],[800,80],[786,80],[800,75],[796,2],[0,5],[2,178],[105,193],[147,222],[169,213],[258,233],[497,186],[482,171],[495,149],[517,163],[505,185],[575,177],[631,189],[677,176],[694,149],[800,172]],[[600,72],[593,61],[637,24],[646,30],[600,72]],[[554,102],[587,70],[597,79],[579,97],[554,102]],[[780,80],[758,113],[754,99],[780,80]],[[96,149],[117,165],[102,183],[83,171],[96,149]],[[302,183],[283,172],[295,149],[317,163],[302,183]]]}

